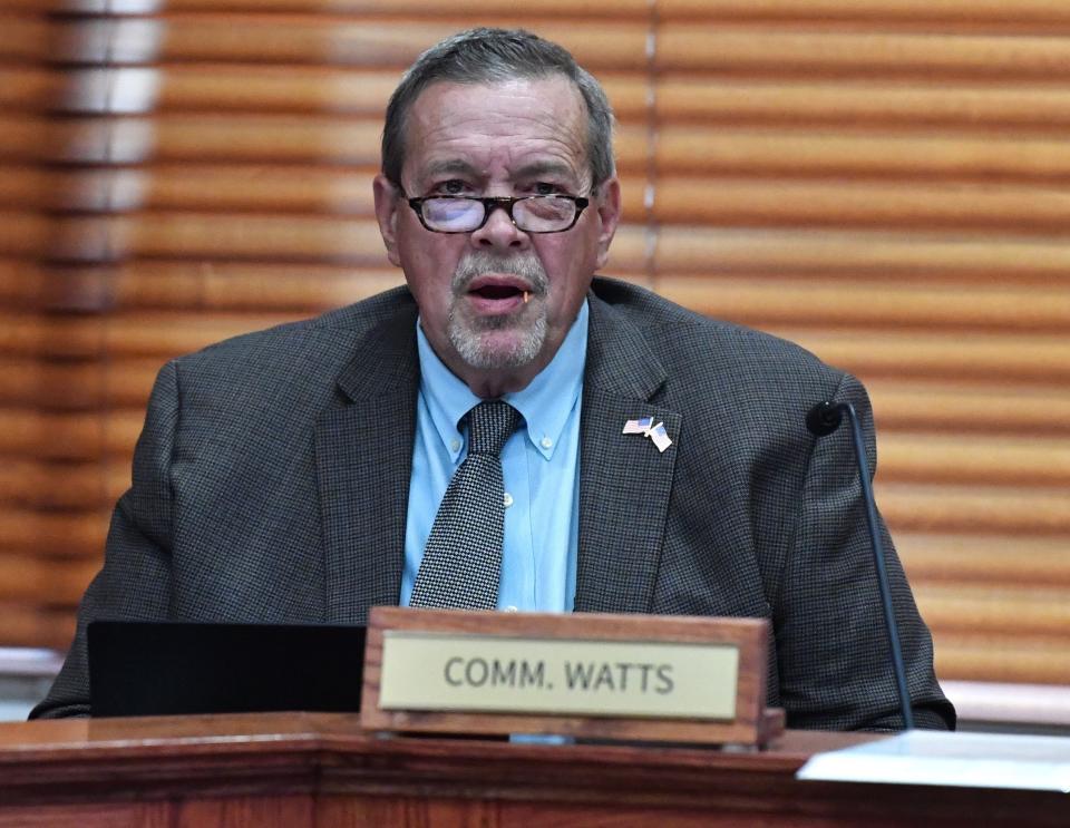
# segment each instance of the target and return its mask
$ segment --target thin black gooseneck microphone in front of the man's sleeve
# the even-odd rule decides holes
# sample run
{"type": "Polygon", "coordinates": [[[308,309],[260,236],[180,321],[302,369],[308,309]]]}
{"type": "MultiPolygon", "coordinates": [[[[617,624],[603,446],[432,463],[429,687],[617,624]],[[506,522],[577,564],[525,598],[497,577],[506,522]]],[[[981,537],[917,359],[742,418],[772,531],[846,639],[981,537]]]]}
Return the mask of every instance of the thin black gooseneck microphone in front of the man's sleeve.
{"type": "Polygon", "coordinates": [[[877,524],[877,504],[873,497],[873,485],[869,483],[869,464],[866,461],[865,440],[862,436],[862,426],[858,415],[849,402],[818,402],[806,413],[806,427],[815,437],[830,435],[844,419],[850,420],[852,442],[855,446],[855,459],[858,462],[858,476],[862,478],[862,494],[866,501],[866,524],[869,526],[869,545],[873,548],[874,563],[877,571],[877,585],[881,587],[881,604],[884,608],[884,629],[888,635],[888,649],[892,651],[892,668],[895,673],[895,684],[899,693],[899,708],[903,715],[903,727],[914,729],[914,712],[911,708],[911,694],[906,689],[906,670],[903,668],[903,650],[899,647],[899,629],[895,623],[895,613],[892,610],[892,590],[888,586],[888,571],[884,562],[884,544],[881,543],[881,532],[877,524]]]}

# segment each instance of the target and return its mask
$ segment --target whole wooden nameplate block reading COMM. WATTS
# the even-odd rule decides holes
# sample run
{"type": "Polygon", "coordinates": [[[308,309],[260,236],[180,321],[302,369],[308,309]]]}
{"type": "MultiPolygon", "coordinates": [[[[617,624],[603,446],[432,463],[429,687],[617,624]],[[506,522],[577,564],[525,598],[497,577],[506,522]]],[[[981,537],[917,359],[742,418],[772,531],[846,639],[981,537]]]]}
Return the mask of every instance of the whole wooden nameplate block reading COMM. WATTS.
{"type": "Polygon", "coordinates": [[[361,723],[763,746],[769,622],[374,607],[361,723]]]}

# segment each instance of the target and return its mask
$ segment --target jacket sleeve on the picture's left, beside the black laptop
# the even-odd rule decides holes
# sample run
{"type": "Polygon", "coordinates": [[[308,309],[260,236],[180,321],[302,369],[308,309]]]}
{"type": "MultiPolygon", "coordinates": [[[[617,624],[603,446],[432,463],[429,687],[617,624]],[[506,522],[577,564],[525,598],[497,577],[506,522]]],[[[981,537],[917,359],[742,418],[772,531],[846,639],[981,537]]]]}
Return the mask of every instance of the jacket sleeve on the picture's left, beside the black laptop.
{"type": "Polygon", "coordinates": [[[171,605],[171,462],[178,422],[175,363],[156,378],[134,452],[133,485],[111,516],[104,568],[86,591],[70,653],[31,719],[89,714],[86,626],[97,620],[159,621],[171,605]]]}

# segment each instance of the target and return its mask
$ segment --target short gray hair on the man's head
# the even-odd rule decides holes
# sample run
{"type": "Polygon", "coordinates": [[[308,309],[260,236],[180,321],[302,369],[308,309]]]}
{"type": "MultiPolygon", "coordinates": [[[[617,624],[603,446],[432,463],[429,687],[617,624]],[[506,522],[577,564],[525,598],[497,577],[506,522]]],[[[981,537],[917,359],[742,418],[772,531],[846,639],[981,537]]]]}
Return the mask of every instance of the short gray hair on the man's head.
{"type": "Polygon", "coordinates": [[[563,75],[587,107],[587,163],[595,189],[614,174],[613,109],[597,80],[564,47],[523,29],[469,29],[439,41],[416,59],[387,105],[382,174],[401,184],[406,119],[431,84],[495,84],[563,75]]]}

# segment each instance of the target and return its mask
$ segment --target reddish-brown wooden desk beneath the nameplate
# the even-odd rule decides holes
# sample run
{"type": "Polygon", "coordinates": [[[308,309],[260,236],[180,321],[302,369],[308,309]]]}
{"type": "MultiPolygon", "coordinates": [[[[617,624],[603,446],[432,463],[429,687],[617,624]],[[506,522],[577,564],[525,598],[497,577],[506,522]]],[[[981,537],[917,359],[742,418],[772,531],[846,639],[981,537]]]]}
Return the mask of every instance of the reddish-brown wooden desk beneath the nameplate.
{"type": "Polygon", "coordinates": [[[377,739],[308,713],[0,725],[0,828],[1070,825],[1070,796],[800,782],[769,751],[377,739]]]}

